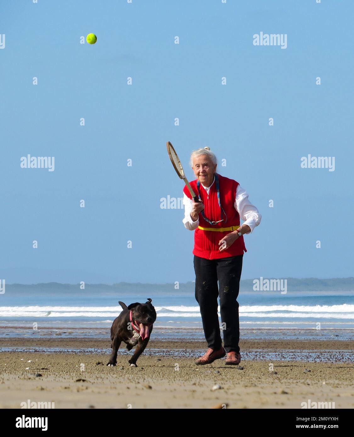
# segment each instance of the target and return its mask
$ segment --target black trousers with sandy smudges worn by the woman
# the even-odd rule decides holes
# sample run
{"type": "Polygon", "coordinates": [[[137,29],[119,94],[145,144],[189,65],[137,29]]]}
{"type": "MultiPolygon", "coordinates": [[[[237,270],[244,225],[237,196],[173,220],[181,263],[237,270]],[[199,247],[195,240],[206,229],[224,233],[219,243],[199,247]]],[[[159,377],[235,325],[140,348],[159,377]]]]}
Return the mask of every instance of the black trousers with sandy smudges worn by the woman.
{"type": "Polygon", "coordinates": [[[243,255],[207,260],[194,255],[196,301],[200,307],[203,329],[208,347],[221,348],[217,298],[220,299],[221,328],[226,352],[239,352],[240,324],[238,319],[238,291],[243,255]],[[219,288],[217,287],[219,281],[219,288]]]}

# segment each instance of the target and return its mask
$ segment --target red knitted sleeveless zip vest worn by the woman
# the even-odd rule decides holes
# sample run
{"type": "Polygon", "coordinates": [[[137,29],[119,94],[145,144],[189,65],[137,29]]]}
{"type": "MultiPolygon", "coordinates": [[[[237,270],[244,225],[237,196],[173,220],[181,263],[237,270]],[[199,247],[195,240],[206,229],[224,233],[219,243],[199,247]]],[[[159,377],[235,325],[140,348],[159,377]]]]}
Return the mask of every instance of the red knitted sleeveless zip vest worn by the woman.
{"type": "MultiPolygon", "coordinates": [[[[233,179],[229,179],[228,177],[219,176],[219,192],[220,192],[220,203],[222,208],[224,209],[225,214],[227,215],[227,222],[220,222],[216,225],[210,225],[206,220],[204,220],[201,212],[199,213],[199,225],[202,228],[228,228],[230,226],[240,225],[240,216],[236,209],[234,208],[235,198],[236,198],[236,188],[238,186],[238,182],[233,179]]],[[[198,194],[198,189],[196,187],[197,179],[189,182],[192,187],[194,193],[198,194]]],[[[183,188],[183,192],[190,199],[192,198],[189,193],[188,188],[185,186],[183,188]]],[[[215,186],[215,181],[211,185],[209,190],[209,196],[207,195],[207,191],[205,191],[202,184],[200,184],[200,199],[204,204],[204,215],[209,218],[211,222],[225,219],[225,215],[223,214],[221,217],[220,207],[217,202],[217,191],[215,186]]],[[[219,258],[227,258],[227,257],[235,257],[236,255],[243,255],[244,252],[247,252],[245,248],[245,243],[243,241],[243,236],[238,237],[231,244],[231,246],[220,252],[219,250],[219,241],[231,231],[203,231],[202,229],[196,228],[194,231],[194,249],[193,254],[200,258],[206,258],[207,260],[216,260],[219,258]]]]}

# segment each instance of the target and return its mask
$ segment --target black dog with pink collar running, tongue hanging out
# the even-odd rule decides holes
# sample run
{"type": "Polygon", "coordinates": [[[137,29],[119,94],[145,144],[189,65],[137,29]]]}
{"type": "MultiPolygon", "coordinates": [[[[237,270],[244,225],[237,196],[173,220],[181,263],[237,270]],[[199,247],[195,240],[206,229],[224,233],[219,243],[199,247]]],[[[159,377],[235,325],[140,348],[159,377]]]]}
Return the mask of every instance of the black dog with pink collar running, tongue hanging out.
{"type": "Polygon", "coordinates": [[[156,311],[153,305],[151,305],[151,300],[147,299],[146,303],[131,303],[128,307],[125,303],[119,301],[123,311],[112,323],[112,354],[107,366],[115,366],[117,364],[117,352],[120,343],[123,341],[126,343],[128,350],[132,349],[136,344],[138,345],[133,357],[128,361],[132,367],[137,367],[137,359],[150,340],[152,325],[156,320],[156,311]]]}

